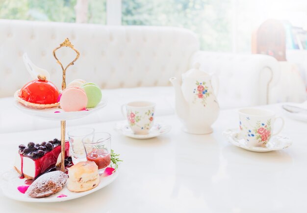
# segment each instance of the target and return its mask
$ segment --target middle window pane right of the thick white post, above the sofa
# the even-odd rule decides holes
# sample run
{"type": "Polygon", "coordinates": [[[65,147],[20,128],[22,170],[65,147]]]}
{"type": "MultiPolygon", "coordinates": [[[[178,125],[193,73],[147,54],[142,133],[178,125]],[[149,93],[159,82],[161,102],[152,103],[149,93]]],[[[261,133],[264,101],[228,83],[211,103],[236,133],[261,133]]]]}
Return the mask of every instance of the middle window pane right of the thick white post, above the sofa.
{"type": "Polygon", "coordinates": [[[202,49],[231,51],[230,7],[230,0],[122,0],[122,24],[184,27],[202,49]]]}

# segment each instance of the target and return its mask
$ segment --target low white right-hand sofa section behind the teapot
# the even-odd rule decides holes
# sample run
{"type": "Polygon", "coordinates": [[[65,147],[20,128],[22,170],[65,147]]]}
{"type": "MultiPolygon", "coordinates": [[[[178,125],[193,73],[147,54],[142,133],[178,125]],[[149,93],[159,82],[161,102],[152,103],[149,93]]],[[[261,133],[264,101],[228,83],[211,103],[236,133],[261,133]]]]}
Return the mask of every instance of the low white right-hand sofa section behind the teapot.
{"type": "Polygon", "coordinates": [[[190,67],[195,62],[217,75],[221,108],[268,104],[269,85],[279,78],[278,62],[268,55],[198,51],[192,55],[190,67]]]}

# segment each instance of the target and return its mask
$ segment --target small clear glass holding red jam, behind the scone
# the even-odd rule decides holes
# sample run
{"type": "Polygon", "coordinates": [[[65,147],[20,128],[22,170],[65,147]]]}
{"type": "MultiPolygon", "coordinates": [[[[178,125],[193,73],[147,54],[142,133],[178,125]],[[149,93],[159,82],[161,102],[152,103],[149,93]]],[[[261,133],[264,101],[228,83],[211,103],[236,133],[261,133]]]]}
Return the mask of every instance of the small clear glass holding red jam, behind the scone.
{"type": "Polygon", "coordinates": [[[86,159],[94,161],[101,175],[111,163],[111,135],[109,133],[92,133],[82,139],[86,159]]]}

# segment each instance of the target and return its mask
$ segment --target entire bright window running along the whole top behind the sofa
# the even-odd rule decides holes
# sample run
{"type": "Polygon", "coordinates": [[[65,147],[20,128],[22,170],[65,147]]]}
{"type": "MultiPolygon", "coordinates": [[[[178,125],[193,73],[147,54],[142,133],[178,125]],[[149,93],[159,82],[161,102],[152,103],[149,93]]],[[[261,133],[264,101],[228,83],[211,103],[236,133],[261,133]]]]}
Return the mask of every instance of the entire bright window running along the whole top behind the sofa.
{"type": "Polygon", "coordinates": [[[305,0],[0,0],[2,19],[184,27],[201,49],[234,53],[251,53],[252,33],[267,19],[307,27],[306,11],[305,0]]]}

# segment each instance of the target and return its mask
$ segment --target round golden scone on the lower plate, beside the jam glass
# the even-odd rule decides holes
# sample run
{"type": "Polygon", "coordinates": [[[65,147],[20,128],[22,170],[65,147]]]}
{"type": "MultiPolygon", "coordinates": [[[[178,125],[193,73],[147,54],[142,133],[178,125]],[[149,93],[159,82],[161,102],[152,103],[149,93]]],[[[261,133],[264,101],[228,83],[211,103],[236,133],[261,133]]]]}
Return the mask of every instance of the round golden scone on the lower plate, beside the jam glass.
{"type": "Polygon", "coordinates": [[[93,161],[78,162],[68,168],[68,176],[67,188],[74,192],[90,190],[100,182],[98,166],[93,161]]]}

